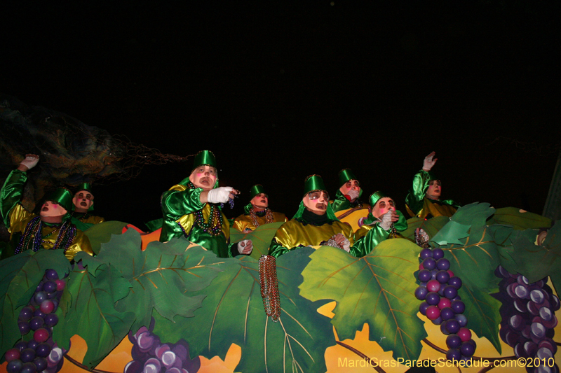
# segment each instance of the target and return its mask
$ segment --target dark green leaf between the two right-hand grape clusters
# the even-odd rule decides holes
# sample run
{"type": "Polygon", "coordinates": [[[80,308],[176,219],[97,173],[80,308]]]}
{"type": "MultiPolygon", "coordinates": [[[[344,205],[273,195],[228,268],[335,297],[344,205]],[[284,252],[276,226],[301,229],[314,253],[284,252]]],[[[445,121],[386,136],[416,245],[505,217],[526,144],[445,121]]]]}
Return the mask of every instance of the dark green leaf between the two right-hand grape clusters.
{"type": "Polygon", "coordinates": [[[496,300],[489,293],[478,288],[471,288],[463,284],[458,290],[462,302],[466,304],[464,315],[468,319],[468,328],[473,330],[478,337],[489,339],[499,353],[501,342],[499,341],[499,323],[501,314],[499,308],[501,302],[496,300]]]}

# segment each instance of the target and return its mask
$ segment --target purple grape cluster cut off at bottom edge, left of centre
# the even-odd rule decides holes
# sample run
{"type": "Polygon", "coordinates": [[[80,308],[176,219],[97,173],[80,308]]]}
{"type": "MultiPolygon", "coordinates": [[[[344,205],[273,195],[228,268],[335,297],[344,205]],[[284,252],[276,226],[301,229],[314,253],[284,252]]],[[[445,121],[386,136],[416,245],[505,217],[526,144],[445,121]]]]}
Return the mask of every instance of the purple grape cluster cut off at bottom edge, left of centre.
{"type": "Polygon", "coordinates": [[[201,360],[189,358],[189,344],[180,339],[176,344],[163,344],[154,329],[154,319],[150,329],[142,326],[135,334],[128,333],[133,344],[130,351],[133,361],[126,366],[124,373],[194,373],[201,367],[201,360]]]}

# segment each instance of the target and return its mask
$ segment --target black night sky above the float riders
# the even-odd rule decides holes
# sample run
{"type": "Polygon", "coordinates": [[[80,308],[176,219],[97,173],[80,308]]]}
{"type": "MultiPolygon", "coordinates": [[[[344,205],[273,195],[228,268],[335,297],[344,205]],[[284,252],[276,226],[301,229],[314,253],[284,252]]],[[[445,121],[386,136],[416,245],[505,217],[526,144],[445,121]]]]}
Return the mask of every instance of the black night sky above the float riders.
{"type": "MultiPolygon", "coordinates": [[[[557,2],[174,3],[3,6],[0,92],[162,153],[212,150],[243,193],[229,217],[255,183],[292,216],[306,176],[334,195],[347,167],[364,199],[384,190],[405,212],[432,150],[442,197],[542,213],[561,143],[557,2]]],[[[144,228],[191,166],[97,185],[96,213],[144,228]]]]}

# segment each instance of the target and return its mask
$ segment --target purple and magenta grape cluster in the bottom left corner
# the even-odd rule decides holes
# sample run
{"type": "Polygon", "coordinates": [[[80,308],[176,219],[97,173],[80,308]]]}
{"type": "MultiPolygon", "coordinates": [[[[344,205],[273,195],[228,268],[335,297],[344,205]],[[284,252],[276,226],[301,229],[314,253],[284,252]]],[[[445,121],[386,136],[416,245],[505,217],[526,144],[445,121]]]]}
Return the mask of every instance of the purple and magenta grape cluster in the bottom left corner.
{"type": "Polygon", "coordinates": [[[54,269],[47,269],[27,306],[18,317],[22,340],[6,351],[8,373],[55,373],[62,368],[62,351],[53,341],[53,327],[58,323],[54,312],[65,288],[65,281],[58,278],[54,269]],[[32,339],[25,342],[23,338],[32,339]]]}

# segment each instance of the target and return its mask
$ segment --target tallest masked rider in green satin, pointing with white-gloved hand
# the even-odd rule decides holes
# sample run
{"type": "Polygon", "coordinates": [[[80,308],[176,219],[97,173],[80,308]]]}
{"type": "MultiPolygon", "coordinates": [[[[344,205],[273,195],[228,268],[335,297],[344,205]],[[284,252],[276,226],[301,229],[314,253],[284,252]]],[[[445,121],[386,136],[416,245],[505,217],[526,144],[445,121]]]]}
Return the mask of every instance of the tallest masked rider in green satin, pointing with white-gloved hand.
{"type": "Polygon", "coordinates": [[[160,241],[185,237],[220,258],[249,255],[251,240],[229,244],[230,223],[220,206],[237,194],[234,188],[218,187],[215,155],[201,150],[195,156],[191,175],[162,195],[160,241]]]}

